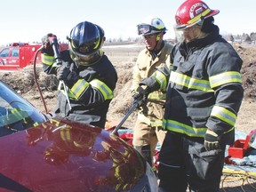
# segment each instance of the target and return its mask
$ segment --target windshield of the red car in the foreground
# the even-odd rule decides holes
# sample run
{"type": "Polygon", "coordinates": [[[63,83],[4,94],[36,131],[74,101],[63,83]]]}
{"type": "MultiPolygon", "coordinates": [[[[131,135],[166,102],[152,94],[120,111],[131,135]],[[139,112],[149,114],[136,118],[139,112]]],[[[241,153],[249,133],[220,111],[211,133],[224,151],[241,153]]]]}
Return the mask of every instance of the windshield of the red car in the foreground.
{"type": "Polygon", "coordinates": [[[0,136],[45,122],[46,116],[0,81],[0,136]]]}

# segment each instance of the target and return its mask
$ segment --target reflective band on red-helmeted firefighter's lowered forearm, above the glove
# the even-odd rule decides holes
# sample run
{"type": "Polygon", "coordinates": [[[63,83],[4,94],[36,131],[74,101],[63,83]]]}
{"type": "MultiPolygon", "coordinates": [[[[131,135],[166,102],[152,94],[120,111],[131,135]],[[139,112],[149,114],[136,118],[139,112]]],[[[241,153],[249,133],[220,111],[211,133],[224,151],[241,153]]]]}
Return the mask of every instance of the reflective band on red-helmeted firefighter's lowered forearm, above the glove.
{"type": "Polygon", "coordinates": [[[226,108],[220,106],[214,106],[212,108],[211,116],[216,116],[221,121],[224,121],[232,126],[235,126],[236,123],[236,114],[232,113],[226,108]]]}

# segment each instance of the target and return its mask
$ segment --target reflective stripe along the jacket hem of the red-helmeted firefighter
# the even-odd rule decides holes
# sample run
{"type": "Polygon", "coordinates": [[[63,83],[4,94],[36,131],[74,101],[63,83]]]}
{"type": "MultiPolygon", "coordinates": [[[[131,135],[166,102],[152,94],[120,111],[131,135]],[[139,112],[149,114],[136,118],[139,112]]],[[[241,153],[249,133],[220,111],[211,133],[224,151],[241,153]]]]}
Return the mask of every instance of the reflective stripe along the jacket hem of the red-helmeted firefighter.
{"type": "Polygon", "coordinates": [[[206,127],[196,128],[189,126],[188,124],[182,124],[180,122],[173,121],[170,119],[163,120],[163,128],[172,132],[180,132],[190,137],[204,137],[204,134],[207,130],[206,127]]]}

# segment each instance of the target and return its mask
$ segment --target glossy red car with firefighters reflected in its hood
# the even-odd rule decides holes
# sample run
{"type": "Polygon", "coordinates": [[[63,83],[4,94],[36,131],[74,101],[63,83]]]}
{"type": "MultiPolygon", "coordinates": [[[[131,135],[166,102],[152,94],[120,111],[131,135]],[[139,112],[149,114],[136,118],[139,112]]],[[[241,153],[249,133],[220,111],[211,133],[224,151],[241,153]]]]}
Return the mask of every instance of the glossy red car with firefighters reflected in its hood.
{"type": "Polygon", "coordinates": [[[157,191],[154,172],[124,140],[44,115],[1,81],[0,136],[0,191],[157,191]]]}

